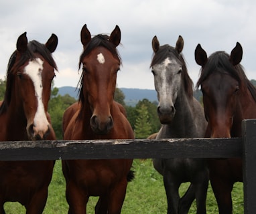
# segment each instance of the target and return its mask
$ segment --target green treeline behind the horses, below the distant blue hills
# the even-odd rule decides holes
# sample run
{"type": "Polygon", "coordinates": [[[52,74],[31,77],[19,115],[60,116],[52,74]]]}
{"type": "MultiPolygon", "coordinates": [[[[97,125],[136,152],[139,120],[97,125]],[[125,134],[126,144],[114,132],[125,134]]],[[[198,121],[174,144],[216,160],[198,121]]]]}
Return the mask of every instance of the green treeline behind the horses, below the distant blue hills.
{"type": "MultiPolygon", "coordinates": [[[[0,79],[0,100],[5,95],[5,80],[0,79]]],[[[147,99],[140,100],[135,107],[125,105],[125,95],[117,88],[115,91],[115,100],[125,106],[127,118],[135,132],[136,138],[147,138],[150,134],[157,132],[161,126],[157,117],[157,102],[150,102],[147,99]]],[[[66,94],[61,96],[58,94],[58,88],[52,84],[52,92],[50,102],[48,104],[48,112],[52,120],[52,127],[56,133],[58,140],[62,140],[62,116],[66,108],[77,100],[66,94]]]]}

